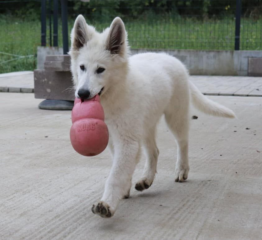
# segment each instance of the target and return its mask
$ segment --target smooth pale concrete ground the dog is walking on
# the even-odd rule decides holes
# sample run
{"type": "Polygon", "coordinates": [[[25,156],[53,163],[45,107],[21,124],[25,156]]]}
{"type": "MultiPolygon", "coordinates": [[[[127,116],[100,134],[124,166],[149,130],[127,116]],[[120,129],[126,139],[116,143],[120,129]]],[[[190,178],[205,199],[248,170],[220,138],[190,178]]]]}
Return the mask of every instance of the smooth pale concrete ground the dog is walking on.
{"type": "Polygon", "coordinates": [[[176,145],[158,131],[158,174],[112,219],[91,212],[111,160],[71,147],[70,111],[37,108],[33,94],[0,93],[0,239],[261,239],[262,98],[208,96],[238,120],[192,110],[189,179],[174,182],[176,145]],[[247,129],[248,128],[248,129],[247,129]]]}

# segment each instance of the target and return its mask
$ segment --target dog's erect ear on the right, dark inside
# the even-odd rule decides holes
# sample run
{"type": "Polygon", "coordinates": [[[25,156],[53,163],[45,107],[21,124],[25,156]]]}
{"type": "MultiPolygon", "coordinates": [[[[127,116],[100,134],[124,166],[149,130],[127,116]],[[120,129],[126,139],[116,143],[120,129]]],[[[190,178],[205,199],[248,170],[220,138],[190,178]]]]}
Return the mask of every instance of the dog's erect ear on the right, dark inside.
{"type": "Polygon", "coordinates": [[[120,17],[116,17],[110,25],[107,38],[107,50],[111,54],[120,54],[126,40],[125,25],[120,17]]]}

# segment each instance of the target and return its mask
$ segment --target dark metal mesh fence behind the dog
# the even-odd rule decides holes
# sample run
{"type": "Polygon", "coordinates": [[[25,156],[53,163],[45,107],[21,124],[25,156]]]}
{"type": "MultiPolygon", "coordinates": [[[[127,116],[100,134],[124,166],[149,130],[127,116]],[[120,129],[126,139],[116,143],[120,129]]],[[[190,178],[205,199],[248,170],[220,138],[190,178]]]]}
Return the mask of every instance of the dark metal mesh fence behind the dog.
{"type": "MultiPolygon", "coordinates": [[[[41,39],[42,43],[45,39],[46,46],[63,46],[61,2],[67,1],[42,2],[46,12],[42,28],[44,23],[46,31],[41,36],[41,0],[0,0],[0,72],[33,70],[41,39]]],[[[68,0],[68,33],[78,14],[83,14],[87,23],[99,31],[108,27],[115,16],[120,16],[131,48],[262,50],[262,1],[242,0],[241,5],[237,4],[240,2],[68,0]]]]}

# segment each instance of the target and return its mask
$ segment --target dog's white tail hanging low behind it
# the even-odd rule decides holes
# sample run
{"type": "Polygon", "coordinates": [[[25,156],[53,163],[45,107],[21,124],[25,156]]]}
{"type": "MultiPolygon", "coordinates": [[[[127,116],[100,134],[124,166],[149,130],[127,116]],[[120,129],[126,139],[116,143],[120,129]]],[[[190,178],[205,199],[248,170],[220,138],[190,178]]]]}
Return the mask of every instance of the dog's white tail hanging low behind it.
{"type": "Polygon", "coordinates": [[[189,81],[189,86],[191,92],[191,100],[194,106],[200,111],[214,116],[228,118],[236,117],[234,112],[229,108],[213,102],[212,100],[205,97],[205,95],[203,95],[191,81],[189,81]]]}

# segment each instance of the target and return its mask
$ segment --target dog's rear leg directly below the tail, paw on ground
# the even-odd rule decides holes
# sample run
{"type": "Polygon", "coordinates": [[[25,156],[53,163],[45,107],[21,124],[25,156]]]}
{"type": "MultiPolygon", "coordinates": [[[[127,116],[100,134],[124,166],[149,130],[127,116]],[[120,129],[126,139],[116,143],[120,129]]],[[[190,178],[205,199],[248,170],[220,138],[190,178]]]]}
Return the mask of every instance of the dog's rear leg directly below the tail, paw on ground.
{"type": "Polygon", "coordinates": [[[168,127],[174,134],[177,142],[177,163],[175,172],[175,182],[184,182],[189,171],[188,163],[188,132],[189,132],[189,104],[185,100],[183,105],[169,106],[165,111],[165,120],[168,127]],[[172,108],[172,110],[170,109],[172,108]]]}

